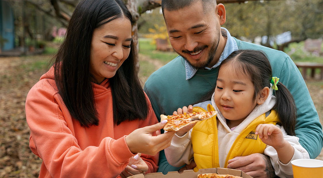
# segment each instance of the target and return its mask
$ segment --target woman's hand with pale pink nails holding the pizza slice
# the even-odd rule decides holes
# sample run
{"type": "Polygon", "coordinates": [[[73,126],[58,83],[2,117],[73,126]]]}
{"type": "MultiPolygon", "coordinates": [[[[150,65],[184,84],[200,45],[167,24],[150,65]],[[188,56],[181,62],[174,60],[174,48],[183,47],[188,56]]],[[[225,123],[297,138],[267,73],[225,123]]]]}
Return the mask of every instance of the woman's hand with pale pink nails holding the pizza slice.
{"type": "Polygon", "coordinates": [[[169,147],[175,131],[161,134],[160,130],[166,123],[167,120],[163,120],[157,124],[132,131],[125,137],[129,150],[132,153],[144,153],[153,156],[169,147]]]}

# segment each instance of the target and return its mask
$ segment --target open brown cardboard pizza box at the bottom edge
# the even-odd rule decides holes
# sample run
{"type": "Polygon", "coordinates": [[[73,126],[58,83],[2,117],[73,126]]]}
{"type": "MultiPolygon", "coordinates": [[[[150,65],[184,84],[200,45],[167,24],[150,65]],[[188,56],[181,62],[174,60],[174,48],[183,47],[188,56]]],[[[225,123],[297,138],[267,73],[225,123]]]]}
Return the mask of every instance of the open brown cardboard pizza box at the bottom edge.
{"type": "Polygon", "coordinates": [[[250,175],[235,169],[228,168],[209,168],[209,169],[199,169],[198,172],[193,170],[185,170],[183,173],[178,173],[177,171],[168,172],[166,175],[162,173],[148,173],[146,175],[137,174],[130,176],[129,178],[197,178],[198,174],[205,173],[217,173],[217,174],[231,174],[237,175],[243,178],[252,178],[250,175]]]}

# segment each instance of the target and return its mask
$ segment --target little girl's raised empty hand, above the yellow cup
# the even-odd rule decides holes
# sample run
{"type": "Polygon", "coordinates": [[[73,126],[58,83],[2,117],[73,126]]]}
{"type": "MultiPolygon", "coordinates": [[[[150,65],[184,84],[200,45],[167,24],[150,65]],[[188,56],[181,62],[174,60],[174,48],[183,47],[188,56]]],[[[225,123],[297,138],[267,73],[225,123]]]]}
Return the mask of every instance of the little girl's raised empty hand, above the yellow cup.
{"type": "Polygon", "coordinates": [[[259,124],[255,131],[261,141],[269,146],[279,148],[284,145],[284,136],[282,131],[274,124],[259,124]]]}

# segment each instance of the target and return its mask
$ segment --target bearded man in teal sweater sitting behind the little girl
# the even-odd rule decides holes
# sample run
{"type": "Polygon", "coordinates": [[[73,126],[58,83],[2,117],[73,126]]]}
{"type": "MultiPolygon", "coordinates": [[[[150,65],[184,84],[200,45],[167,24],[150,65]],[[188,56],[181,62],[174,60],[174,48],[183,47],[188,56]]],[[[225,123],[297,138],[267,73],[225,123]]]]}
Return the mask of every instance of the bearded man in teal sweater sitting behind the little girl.
{"type": "MultiPolygon", "coordinates": [[[[155,71],[147,79],[144,90],[151,100],[158,119],[171,115],[182,106],[200,100],[214,89],[218,66],[238,49],[262,50],[268,56],[273,76],[292,93],[297,105],[296,136],[316,158],[323,146],[322,125],[306,84],[290,57],[274,49],[240,41],[221,27],[225,23],[225,8],[215,0],[162,0],[169,40],[180,55],[155,71]]],[[[213,92],[213,91],[212,91],[213,92]]],[[[239,169],[253,177],[274,177],[269,158],[262,154],[235,157],[228,168],[239,169]]],[[[182,169],[192,169],[194,162],[182,169]]],[[[166,174],[177,171],[160,153],[159,170],[166,174]]]]}

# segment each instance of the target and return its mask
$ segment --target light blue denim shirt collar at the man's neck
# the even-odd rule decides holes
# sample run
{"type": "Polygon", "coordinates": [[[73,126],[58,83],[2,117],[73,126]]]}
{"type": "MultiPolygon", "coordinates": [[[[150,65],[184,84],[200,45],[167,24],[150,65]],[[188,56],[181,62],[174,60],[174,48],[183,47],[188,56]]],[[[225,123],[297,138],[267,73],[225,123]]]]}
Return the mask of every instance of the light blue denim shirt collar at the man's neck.
{"type": "MultiPolygon", "coordinates": [[[[229,31],[221,27],[221,33],[222,33],[222,36],[227,37],[227,41],[226,41],[224,50],[219,58],[219,61],[212,68],[218,67],[221,64],[221,62],[225,58],[227,58],[233,51],[238,50],[237,43],[235,42],[234,38],[231,37],[229,31]]],[[[186,71],[186,80],[191,79],[195,75],[198,69],[193,67],[189,62],[187,62],[186,59],[184,59],[184,64],[185,64],[185,71],[186,71]]],[[[204,69],[210,70],[212,68],[205,67],[204,69]]]]}

